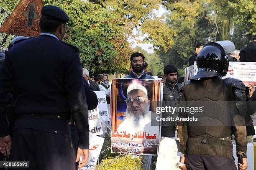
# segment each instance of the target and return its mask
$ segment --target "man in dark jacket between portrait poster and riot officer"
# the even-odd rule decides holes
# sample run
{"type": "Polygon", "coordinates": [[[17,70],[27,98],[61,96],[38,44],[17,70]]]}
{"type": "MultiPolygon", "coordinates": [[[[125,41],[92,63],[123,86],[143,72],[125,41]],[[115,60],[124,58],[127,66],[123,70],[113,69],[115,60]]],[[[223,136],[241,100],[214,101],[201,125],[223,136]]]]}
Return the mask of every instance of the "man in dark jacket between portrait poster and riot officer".
{"type": "MultiPolygon", "coordinates": [[[[179,94],[179,89],[181,84],[178,83],[178,71],[174,65],[167,65],[164,67],[164,76],[166,78],[165,86],[163,90],[163,107],[176,107],[178,105],[178,100],[181,94],[179,94]]],[[[175,114],[162,113],[162,117],[174,117],[175,114]]],[[[161,136],[162,137],[174,137],[175,136],[175,121],[162,121],[161,136]]]]}

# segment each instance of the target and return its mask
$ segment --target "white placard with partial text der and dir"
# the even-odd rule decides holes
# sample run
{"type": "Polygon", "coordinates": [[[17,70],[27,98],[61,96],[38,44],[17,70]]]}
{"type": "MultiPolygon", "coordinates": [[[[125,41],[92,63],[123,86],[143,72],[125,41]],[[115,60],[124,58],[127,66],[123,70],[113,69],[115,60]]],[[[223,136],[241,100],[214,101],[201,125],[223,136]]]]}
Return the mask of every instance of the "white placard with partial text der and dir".
{"type": "Polygon", "coordinates": [[[95,135],[103,134],[99,108],[88,111],[89,132],[95,135]]]}

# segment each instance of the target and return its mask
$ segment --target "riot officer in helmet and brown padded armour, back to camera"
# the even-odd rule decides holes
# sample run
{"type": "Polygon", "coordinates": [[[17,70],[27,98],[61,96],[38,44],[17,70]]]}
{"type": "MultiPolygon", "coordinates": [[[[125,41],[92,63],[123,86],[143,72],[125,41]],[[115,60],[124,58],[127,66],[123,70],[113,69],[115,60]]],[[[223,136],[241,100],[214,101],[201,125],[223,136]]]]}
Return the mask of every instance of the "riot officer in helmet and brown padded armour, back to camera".
{"type": "MultiPolygon", "coordinates": [[[[233,160],[235,134],[239,170],[246,170],[246,87],[238,79],[221,79],[228,71],[228,54],[235,50],[231,41],[207,43],[197,57],[198,73],[182,87],[185,106],[202,107],[202,113],[180,113],[181,117],[196,117],[195,121],[180,121],[178,134],[181,151],[191,170],[236,170],[233,160]],[[230,102],[235,101],[235,102],[230,102]]],[[[186,169],[180,165],[181,169],[186,169]]]]}

